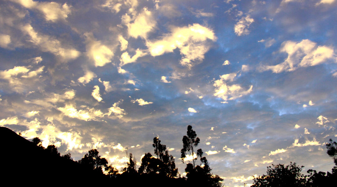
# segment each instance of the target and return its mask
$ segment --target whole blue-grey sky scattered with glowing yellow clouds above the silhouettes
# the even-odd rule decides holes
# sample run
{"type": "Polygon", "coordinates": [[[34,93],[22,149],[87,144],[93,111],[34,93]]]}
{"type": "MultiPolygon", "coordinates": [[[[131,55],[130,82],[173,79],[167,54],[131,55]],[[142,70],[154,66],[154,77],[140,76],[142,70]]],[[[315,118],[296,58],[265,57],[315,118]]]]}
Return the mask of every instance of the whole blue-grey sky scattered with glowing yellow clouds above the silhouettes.
{"type": "Polygon", "coordinates": [[[336,0],[0,2],[0,126],[125,167],[192,125],[226,187],[271,164],[331,171],[336,0]]]}

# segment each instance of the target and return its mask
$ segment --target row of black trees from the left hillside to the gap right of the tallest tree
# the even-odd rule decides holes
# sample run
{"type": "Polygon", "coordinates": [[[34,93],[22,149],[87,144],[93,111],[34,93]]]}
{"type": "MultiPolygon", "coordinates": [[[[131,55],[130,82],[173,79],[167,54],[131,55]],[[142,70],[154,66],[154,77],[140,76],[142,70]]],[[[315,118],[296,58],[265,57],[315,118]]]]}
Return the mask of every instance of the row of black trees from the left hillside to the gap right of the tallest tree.
{"type": "MultiPolygon", "coordinates": [[[[127,180],[128,185],[151,181],[151,183],[157,183],[160,186],[196,185],[220,187],[223,179],[211,173],[212,169],[206,157],[203,156],[202,149],[198,149],[195,153],[196,147],[200,143],[200,139],[196,136],[192,126],[188,125],[187,135],[183,136],[183,149],[181,149],[181,159],[183,162],[187,162],[185,168],[186,177],[178,175],[174,157],[168,153],[166,145],[161,144],[158,137],[153,138],[154,155],[149,152],[145,153],[138,169],[132,153],[128,154],[129,160],[126,163],[126,167],[118,171],[113,165],[109,165],[105,158],[99,155],[97,149],[90,150],[83,158],[74,162],[119,184],[127,180]],[[194,159],[187,160],[188,154],[194,159]]],[[[34,138],[32,142],[44,149],[39,138],[34,138]]],[[[55,145],[49,145],[44,151],[73,161],[70,153],[61,156],[55,145]]]]}

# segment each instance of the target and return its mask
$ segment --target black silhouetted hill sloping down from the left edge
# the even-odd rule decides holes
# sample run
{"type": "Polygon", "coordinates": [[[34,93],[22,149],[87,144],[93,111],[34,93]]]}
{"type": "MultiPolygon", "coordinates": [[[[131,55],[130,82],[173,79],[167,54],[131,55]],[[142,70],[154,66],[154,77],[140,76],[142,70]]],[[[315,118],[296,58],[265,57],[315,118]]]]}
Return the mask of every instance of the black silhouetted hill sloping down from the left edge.
{"type": "Polygon", "coordinates": [[[0,127],[0,142],[2,182],[64,185],[109,180],[75,161],[52,155],[6,127],[0,127]]]}

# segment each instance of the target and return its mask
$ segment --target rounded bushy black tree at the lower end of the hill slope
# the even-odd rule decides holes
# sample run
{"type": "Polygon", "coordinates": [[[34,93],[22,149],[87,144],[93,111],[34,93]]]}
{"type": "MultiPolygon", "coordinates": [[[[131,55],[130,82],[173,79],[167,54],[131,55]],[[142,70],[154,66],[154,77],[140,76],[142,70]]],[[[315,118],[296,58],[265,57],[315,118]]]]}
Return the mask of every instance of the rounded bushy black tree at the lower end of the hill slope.
{"type": "Polygon", "coordinates": [[[91,149],[84,157],[79,160],[80,164],[90,167],[90,169],[102,173],[102,168],[107,167],[108,161],[98,155],[97,149],[91,149]]]}

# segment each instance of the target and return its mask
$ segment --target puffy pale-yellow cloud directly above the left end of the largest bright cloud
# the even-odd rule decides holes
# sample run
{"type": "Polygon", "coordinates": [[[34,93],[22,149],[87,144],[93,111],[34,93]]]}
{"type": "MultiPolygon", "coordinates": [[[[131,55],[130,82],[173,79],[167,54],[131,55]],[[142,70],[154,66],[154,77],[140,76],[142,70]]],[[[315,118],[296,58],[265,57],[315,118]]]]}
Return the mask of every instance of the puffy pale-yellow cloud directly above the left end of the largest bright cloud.
{"type": "Polygon", "coordinates": [[[144,8],[140,14],[135,16],[134,20],[127,14],[123,15],[122,23],[128,27],[128,34],[133,38],[147,38],[148,33],[156,26],[156,21],[154,20],[152,12],[146,8],[144,8]]]}

